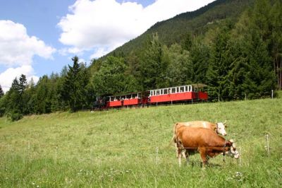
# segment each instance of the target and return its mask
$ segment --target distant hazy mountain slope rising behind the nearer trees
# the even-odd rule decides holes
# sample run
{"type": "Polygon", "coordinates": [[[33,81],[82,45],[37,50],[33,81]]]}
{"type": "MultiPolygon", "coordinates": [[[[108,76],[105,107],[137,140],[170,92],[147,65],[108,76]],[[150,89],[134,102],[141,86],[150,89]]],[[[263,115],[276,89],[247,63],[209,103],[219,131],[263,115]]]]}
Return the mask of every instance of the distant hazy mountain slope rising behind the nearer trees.
{"type": "MultiPolygon", "coordinates": [[[[250,7],[255,0],[218,0],[197,11],[181,13],[173,18],[154,24],[145,33],[126,42],[121,47],[106,54],[123,54],[125,57],[130,52],[138,52],[145,44],[147,37],[157,33],[160,42],[170,46],[173,43],[180,43],[188,33],[202,35],[215,27],[221,20],[229,19],[235,22],[245,8],[250,7]]],[[[102,57],[104,59],[105,57],[102,57]]]]}

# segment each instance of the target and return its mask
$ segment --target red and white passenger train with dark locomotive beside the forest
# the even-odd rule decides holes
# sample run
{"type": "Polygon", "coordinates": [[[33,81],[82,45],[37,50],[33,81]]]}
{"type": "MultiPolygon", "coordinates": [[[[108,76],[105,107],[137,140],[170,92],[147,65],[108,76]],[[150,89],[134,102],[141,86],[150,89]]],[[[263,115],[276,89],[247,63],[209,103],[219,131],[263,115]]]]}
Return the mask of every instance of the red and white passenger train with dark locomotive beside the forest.
{"type": "Polygon", "coordinates": [[[207,85],[204,83],[195,83],[121,95],[104,95],[97,97],[93,108],[97,110],[167,103],[173,104],[176,102],[207,101],[208,93],[204,91],[205,87],[207,87],[207,85]]]}

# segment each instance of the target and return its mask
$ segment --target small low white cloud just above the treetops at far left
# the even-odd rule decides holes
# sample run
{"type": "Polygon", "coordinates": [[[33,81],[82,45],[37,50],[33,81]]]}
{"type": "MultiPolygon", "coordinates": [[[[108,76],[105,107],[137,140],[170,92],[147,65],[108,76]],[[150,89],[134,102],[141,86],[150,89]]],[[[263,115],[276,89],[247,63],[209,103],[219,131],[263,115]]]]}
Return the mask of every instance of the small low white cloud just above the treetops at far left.
{"type": "Polygon", "coordinates": [[[20,78],[20,75],[24,74],[27,78],[27,81],[30,81],[32,78],[35,83],[39,80],[38,76],[34,76],[35,72],[30,65],[23,65],[17,68],[9,68],[3,73],[0,74],[0,85],[4,92],[7,92],[11,87],[13,79],[20,78]]]}

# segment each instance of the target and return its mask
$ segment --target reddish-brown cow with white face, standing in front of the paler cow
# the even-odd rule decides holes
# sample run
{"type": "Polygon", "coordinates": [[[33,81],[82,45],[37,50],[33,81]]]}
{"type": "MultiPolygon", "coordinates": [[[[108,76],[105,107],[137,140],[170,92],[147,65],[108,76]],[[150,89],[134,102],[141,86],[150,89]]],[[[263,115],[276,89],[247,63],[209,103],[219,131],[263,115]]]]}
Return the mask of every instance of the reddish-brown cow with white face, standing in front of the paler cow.
{"type": "Polygon", "coordinates": [[[176,144],[179,165],[181,165],[181,152],[183,150],[185,150],[187,162],[189,162],[189,155],[199,152],[203,168],[208,162],[208,157],[214,158],[221,153],[232,158],[239,158],[233,140],[227,141],[210,129],[182,126],[176,134],[176,144]]]}

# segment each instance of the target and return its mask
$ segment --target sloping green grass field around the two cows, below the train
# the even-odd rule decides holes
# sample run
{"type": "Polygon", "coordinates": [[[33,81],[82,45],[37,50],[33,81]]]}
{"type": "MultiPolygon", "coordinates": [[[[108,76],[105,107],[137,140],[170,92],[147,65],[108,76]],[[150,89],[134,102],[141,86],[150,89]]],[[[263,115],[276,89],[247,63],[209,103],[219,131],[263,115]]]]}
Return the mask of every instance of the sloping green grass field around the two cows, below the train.
{"type": "Polygon", "coordinates": [[[0,187],[281,187],[282,99],[0,118],[0,187]],[[240,160],[178,168],[174,122],[223,122],[240,160]],[[270,155],[266,149],[269,134],[270,155]]]}

